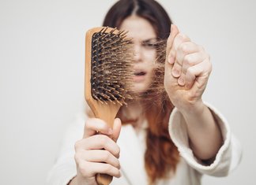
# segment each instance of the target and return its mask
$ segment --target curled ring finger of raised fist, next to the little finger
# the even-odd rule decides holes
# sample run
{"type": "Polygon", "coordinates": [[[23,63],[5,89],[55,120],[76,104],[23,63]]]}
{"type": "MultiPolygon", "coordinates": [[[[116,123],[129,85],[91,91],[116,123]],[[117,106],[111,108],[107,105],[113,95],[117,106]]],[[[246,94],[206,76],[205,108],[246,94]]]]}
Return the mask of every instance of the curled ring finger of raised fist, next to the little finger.
{"type": "Polygon", "coordinates": [[[183,58],[183,66],[181,69],[181,75],[179,76],[178,79],[178,84],[180,86],[184,86],[185,85],[185,76],[186,76],[186,71],[187,68],[190,68],[193,65],[197,65],[198,63],[202,62],[205,60],[205,58],[209,57],[208,54],[206,54],[205,52],[197,52],[197,53],[193,53],[193,54],[187,54],[184,58],[183,58]]]}

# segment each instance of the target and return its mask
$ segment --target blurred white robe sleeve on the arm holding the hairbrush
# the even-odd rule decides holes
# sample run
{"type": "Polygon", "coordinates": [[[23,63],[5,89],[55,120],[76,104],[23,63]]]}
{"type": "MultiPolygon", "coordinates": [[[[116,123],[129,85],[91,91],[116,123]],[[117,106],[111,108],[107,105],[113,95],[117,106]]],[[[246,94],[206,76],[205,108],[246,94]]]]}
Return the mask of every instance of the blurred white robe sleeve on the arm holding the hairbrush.
{"type": "Polygon", "coordinates": [[[85,119],[84,113],[77,114],[76,119],[67,129],[55,165],[48,173],[47,185],[66,185],[77,175],[74,144],[83,136],[85,119]]]}

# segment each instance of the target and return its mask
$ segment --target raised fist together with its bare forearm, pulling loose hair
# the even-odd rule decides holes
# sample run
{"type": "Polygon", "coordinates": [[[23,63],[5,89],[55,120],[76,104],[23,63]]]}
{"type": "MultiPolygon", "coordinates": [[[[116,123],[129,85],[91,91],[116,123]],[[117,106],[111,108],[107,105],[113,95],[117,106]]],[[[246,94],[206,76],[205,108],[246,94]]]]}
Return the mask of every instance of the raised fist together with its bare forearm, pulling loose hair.
{"type": "Polygon", "coordinates": [[[209,54],[172,25],[167,43],[164,87],[186,120],[194,155],[208,161],[215,157],[222,142],[213,114],[201,100],[211,71],[209,54]]]}

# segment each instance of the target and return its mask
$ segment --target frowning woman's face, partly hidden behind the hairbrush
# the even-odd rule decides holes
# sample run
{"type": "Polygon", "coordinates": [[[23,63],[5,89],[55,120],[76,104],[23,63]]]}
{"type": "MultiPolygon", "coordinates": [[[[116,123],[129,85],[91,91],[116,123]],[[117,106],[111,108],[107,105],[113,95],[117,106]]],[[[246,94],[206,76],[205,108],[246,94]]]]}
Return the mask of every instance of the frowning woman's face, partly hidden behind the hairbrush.
{"type": "Polygon", "coordinates": [[[134,43],[134,85],[132,91],[147,91],[152,80],[154,61],[156,59],[156,33],[148,20],[135,15],[122,21],[120,30],[126,30],[134,43]]]}

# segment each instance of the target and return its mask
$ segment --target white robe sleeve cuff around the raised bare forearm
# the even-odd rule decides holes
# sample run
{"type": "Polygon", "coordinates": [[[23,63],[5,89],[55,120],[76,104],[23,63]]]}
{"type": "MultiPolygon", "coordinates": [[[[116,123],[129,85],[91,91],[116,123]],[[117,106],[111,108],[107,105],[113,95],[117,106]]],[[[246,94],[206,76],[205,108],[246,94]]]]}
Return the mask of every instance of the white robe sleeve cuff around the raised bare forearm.
{"type": "Polygon", "coordinates": [[[227,120],[212,105],[205,103],[213,113],[216,123],[220,127],[223,145],[217,152],[215,160],[210,165],[203,165],[189,146],[189,139],[186,131],[186,122],[182,113],[178,109],[174,109],[169,120],[169,133],[175,146],[178,147],[180,155],[185,159],[186,163],[201,174],[209,176],[228,176],[232,172],[242,156],[242,149],[239,141],[235,139],[229,128],[227,120]]]}

